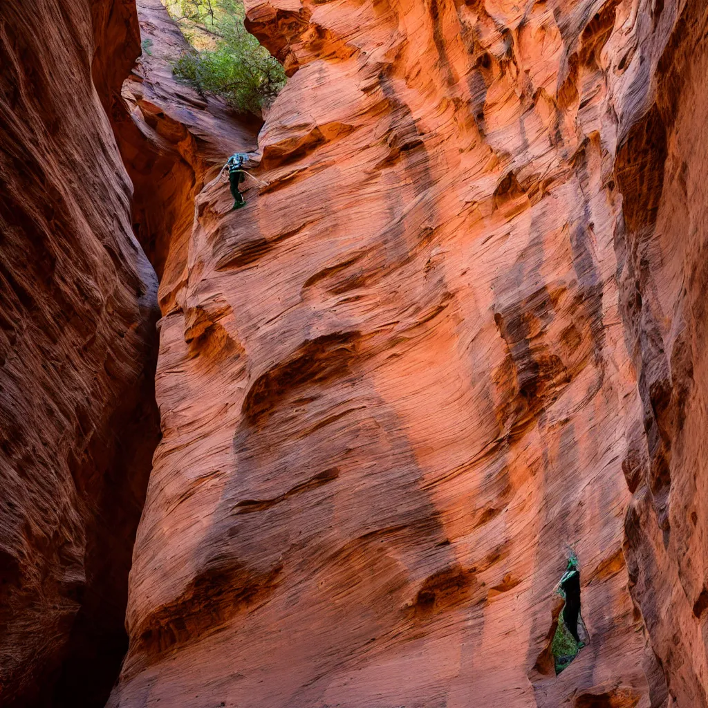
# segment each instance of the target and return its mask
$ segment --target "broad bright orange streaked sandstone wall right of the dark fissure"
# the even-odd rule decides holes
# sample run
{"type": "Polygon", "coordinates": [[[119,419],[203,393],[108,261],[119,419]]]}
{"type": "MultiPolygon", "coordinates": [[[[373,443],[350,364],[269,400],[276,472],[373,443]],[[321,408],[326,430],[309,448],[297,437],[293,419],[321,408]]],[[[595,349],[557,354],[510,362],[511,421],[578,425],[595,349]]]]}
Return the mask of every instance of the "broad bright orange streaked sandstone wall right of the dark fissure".
{"type": "Polygon", "coordinates": [[[244,210],[246,132],[124,89],[164,437],[108,705],[707,705],[704,1],[246,8],[244,210]]]}

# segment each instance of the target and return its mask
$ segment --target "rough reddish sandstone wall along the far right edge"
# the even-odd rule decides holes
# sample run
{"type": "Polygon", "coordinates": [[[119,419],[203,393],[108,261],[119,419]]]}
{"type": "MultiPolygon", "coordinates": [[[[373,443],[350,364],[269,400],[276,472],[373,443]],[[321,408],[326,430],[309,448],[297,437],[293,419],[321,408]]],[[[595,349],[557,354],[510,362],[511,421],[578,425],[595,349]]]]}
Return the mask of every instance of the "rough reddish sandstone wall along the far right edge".
{"type": "Polygon", "coordinates": [[[678,706],[708,704],[707,30],[705,4],[685,4],[656,100],[617,158],[620,302],[641,400],[623,462],[624,554],[678,706]]]}

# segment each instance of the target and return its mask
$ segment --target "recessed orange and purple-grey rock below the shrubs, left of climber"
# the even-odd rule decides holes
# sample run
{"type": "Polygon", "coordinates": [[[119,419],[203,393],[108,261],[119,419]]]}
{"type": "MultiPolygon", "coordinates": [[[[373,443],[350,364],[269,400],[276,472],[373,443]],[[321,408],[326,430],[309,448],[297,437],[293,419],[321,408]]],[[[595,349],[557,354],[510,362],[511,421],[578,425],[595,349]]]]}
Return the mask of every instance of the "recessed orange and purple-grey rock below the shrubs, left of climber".
{"type": "Polygon", "coordinates": [[[178,81],[171,63],[190,45],[159,0],[138,0],[137,11],[151,48],[132,67],[111,118],[134,186],[133,228],[160,280],[166,314],[180,307],[195,197],[228,156],[256,147],[262,120],[235,115],[178,81]]]}

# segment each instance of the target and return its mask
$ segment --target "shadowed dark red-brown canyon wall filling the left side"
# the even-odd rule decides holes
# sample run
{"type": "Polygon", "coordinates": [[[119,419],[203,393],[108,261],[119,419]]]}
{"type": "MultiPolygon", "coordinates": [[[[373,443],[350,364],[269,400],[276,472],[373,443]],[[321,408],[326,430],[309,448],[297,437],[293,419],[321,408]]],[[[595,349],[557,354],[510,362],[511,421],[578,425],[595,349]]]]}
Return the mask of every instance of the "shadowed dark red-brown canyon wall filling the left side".
{"type": "Polygon", "coordinates": [[[0,4],[4,707],[103,705],[127,647],[157,281],[103,105],[138,54],[130,0],[0,4]]]}

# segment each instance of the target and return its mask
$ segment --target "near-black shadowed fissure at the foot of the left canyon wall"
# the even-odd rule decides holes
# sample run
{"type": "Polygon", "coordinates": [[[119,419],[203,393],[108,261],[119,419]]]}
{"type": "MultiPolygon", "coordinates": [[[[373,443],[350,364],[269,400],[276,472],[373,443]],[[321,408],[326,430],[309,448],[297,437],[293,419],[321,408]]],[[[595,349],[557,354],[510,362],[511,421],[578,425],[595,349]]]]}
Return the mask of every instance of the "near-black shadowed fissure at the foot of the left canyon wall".
{"type": "MultiPolygon", "coordinates": [[[[153,292],[156,297],[156,292],[153,292]]],[[[86,539],[87,583],[69,636],[52,697],[53,708],[102,708],[127,652],[127,584],[137,524],[142,514],[152,455],[159,442],[154,377],[157,360],[156,309],[147,321],[150,349],[139,385],[127,392],[112,421],[108,451],[112,464],[94,500],[96,524],[86,539]]],[[[110,427],[110,426],[109,426],[110,427]]]]}

